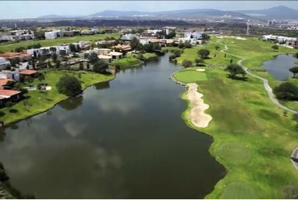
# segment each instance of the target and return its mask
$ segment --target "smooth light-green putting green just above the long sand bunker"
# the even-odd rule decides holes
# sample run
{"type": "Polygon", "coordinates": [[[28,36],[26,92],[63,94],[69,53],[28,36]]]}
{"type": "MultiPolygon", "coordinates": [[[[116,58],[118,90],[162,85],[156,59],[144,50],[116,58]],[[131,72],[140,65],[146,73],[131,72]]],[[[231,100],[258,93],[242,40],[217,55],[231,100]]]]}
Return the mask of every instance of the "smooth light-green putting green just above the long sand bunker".
{"type": "Polygon", "coordinates": [[[200,80],[207,80],[205,72],[196,71],[197,68],[186,68],[174,74],[174,78],[183,83],[193,83],[200,80]]]}

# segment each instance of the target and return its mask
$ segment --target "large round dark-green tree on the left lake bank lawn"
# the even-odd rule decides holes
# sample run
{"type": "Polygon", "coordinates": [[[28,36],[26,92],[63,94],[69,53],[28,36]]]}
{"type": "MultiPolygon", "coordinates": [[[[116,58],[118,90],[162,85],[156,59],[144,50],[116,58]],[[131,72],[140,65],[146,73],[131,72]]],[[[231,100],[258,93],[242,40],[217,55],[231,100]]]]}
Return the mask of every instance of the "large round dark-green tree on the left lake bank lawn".
{"type": "Polygon", "coordinates": [[[82,93],[82,86],[80,85],[80,80],[70,75],[64,75],[56,84],[58,92],[68,97],[74,97],[82,93]]]}

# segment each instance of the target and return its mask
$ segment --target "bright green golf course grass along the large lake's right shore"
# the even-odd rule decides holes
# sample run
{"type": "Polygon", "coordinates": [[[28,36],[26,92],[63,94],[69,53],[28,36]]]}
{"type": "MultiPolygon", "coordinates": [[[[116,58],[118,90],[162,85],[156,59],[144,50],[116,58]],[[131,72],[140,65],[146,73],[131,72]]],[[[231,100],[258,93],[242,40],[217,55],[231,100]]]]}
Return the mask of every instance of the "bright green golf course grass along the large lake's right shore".
{"type": "MultiPolygon", "coordinates": [[[[243,60],[243,67],[268,80],[271,88],[284,83],[262,69],[262,63],[297,50],[280,46],[275,51],[271,46],[272,43],[257,38],[214,36],[206,45],[185,49],[176,58],[178,63],[185,59],[195,63],[200,48],[211,52],[205,59],[206,67],[200,67],[205,71],[192,67],[174,74],[182,83],[198,85],[198,93],[209,106],[204,112],[211,115],[212,120],[208,127],[193,124],[191,109],[194,105],[188,99],[188,90],[181,95],[188,102],[182,118],[189,127],[213,137],[209,150],[227,169],[225,177],[206,199],[291,199],[290,194],[297,191],[298,173],[289,159],[298,144],[292,112],[284,112],[270,100],[260,78],[248,73],[246,79],[231,79],[224,70],[231,59],[233,63],[243,60]]],[[[287,81],[298,85],[297,79],[287,81]]],[[[293,101],[280,103],[292,110],[298,107],[293,101]]]]}

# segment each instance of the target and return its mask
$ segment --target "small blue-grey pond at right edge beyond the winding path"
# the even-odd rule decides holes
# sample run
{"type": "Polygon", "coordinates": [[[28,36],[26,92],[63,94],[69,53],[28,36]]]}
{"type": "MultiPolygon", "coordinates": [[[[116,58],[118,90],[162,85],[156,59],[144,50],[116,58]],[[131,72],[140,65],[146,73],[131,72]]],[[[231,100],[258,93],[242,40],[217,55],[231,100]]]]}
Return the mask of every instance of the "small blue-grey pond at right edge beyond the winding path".
{"type": "Polygon", "coordinates": [[[268,73],[273,75],[273,77],[277,80],[287,80],[292,77],[293,73],[289,71],[289,68],[293,68],[297,64],[298,59],[294,58],[292,55],[281,54],[279,56],[275,56],[271,60],[266,61],[262,68],[265,68],[268,73]]]}

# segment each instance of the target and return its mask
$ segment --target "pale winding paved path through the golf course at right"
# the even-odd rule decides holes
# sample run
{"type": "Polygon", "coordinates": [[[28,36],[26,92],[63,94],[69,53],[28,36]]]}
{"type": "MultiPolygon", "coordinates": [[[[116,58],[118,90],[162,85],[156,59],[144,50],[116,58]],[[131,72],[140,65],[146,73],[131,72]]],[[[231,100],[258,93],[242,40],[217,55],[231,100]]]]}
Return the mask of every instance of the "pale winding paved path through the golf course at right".
{"type": "MultiPolygon", "coordinates": [[[[220,42],[218,42],[218,43],[220,43],[220,42]]],[[[223,50],[221,50],[221,52],[226,53],[225,51],[228,50],[228,46],[226,46],[226,45],[223,44],[223,43],[220,43],[220,44],[222,44],[223,46],[225,46],[225,48],[224,48],[223,50]]],[[[258,76],[258,75],[255,75],[255,74],[253,74],[253,73],[250,73],[250,71],[248,70],[248,68],[246,68],[245,66],[243,66],[242,61],[243,61],[243,60],[246,60],[245,58],[243,58],[242,56],[234,55],[233,53],[227,53],[227,54],[230,54],[230,55],[232,55],[232,56],[235,56],[235,57],[240,58],[240,60],[238,60],[238,62],[237,62],[238,65],[240,65],[241,67],[243,67],[243,69],[245,70],[245,72],[248,73],[249,75],[252,75],[253,77],[262,80],[263,85],[264,85],[264,88],[265,88],[265,90],[267,91],[267,95],[268,95],[268,97],[270,98],[270,100],[271,100],[275,105],[277,105],[277,107],[280,107],[280,108],[282,108],[283,110],[287,110],[288,112],[292,112],[292,113],[294,113],[294,114],[297,114],[297,113],[298,113],[296,110],[292,110],[292,109],[290,109],[289,107],[286,107],[286,106],[280,104],[280,102],[277,100],[277,98],[275,98],[275,95],[273,94],[273,92],[272,92],[272,88],[270,87],[270,85],[269,85],[269,81],[268,81],[267,79],[262,78],[262,77],[260,77],[260,76],[258,76]]]]}

